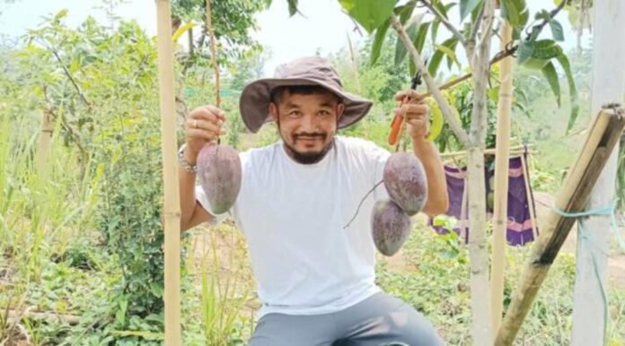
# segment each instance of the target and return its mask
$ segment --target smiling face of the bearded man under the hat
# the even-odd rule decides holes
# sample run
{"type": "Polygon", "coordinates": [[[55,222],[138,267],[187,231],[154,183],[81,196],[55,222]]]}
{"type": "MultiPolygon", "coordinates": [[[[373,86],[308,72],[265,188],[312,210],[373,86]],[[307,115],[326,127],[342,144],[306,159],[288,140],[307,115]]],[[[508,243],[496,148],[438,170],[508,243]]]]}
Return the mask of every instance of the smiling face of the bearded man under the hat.
{"type": "Polygon", "coordinates": [[[320,161],[330,150],[344,105],[330,91],[310,94],[283,91],[269,105],[289,155],[300,163],[320,161]]]}

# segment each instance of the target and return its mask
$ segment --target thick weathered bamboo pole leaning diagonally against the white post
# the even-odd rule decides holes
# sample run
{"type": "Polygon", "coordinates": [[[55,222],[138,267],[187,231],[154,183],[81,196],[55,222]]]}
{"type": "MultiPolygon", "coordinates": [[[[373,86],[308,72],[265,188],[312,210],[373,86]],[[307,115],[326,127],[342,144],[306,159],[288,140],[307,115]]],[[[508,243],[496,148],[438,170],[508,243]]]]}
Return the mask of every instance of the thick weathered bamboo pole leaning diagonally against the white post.
{"type": "MultiPolygon", "coordinates": [[[[594,118],[584,146],[577,155],[576,163],[559,191],[555,208],[564,212],[584,210],[591,189],[619,141],[623,126],[625,126],[623,108],[603,108],[594,118]]],[[[555,211],[550,212],[541,235],[532,247],[522,279],[512,293],[510,306],[497,332],[495,341],[497,346],[511,345],[515,341],[516,334],[532,307],[533,299],[573,223],[575,219],[563,217],[555,211]]]]}

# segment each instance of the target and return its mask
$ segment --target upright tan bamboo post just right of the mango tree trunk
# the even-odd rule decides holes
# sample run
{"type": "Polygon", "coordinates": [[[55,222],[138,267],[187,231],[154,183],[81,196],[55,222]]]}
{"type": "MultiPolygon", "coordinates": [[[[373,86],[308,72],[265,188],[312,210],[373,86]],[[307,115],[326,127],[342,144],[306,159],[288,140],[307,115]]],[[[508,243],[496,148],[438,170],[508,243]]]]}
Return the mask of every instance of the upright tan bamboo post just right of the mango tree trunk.
{"type": "MultiPolygon", "coordinates": [[[[512,27],[501,23],[501,49],[512,40],[512,27]]],[[[499,63],[499,101],[497,102],[497,153],[495,154],[495,203],[493,206],[493,255],[490,264],[490,311],[493,332],[501,324],[504,310],[504,268],[506,263],[506,226],[508,167],[510,165],[510,111],[512,109],[512,57],[499,63]]]]}

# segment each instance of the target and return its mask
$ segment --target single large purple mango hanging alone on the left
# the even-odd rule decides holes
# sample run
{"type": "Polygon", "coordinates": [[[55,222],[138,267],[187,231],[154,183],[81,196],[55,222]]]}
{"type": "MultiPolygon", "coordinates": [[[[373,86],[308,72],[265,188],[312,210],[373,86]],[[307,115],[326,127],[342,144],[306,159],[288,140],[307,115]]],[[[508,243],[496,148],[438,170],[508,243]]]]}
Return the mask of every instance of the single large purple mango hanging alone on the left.
{"type": "Polygon", "coordinates": [[[241,190],[241,159],[232,147],[209,143],[199,151],[198,177],[211,211],[227,212],[241,190]]]}

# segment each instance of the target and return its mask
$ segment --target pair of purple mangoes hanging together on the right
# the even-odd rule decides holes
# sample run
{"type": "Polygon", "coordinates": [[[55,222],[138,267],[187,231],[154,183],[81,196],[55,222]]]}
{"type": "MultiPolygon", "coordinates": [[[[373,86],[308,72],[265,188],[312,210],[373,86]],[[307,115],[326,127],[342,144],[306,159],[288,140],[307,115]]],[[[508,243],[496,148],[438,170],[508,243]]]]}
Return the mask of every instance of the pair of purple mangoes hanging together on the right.
{"type": "Polygon", "coordinates": [[[395,152],[384,164],[383,181],[390,199],[374,204],[371,226],[375,247],[383,255],[391,256],[410,235],[410,216],[426,204],[427,176],[414,154],[395,152]]]}

